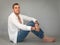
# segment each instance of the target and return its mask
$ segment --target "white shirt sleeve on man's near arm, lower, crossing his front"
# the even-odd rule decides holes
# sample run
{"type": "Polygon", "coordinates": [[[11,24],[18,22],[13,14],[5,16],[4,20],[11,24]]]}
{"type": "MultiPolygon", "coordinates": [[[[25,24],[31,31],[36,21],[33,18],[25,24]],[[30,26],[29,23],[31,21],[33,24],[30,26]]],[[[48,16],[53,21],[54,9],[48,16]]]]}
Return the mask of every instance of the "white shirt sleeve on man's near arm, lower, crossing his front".
{"type": "Polygon", "coordinates": [[[26,30],[26,31],[31,31],[31,26],[20,24],[18,22],[18,20],[16,20],[15,18],[11,19],[11,22],[12,22],[13,25],[15,25],[19,29],[26,30]]]}

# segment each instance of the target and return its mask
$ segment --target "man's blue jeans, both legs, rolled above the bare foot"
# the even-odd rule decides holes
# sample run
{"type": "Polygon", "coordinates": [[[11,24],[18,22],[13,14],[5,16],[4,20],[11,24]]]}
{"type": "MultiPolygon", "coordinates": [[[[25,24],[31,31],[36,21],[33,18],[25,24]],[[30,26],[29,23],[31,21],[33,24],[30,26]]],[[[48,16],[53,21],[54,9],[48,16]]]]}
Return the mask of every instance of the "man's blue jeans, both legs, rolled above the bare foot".
{"type": "MultiPolygon", "coordinates": [[[[27,25],[28,25],[28,26],[34,26],[35,24],[34,24],[33,21],[30,21],[29,23],[27,23],[27,25]]],[[[21,29],[21,30],[18,32],[17,42],[22,42],[22,41],[26,38],[26,36],[28,35],[29,32],[30,32],[30,31],[25,31],[25,30],[22,30],[22,29],[21,29]]],[[[35,31],[35,30],[33,30],[33,31],[31,31],[31,32],[34,33],[36,36],[38,36],[38,37],[41,38],[41,39],[44,37],[44,32],[43,32],[42,29],[40,29],[39,32],[37,32],[37,31],[35,31]]]]}

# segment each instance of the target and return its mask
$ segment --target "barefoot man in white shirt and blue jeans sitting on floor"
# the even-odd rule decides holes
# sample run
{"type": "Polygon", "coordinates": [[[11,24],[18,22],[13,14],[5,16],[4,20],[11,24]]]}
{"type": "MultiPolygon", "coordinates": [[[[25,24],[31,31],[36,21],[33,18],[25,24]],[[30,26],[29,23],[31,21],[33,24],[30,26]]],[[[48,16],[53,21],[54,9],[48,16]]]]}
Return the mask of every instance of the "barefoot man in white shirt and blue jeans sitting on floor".
{"type": "Polygon", "coordinates": [[[54,38],[44,35],[37,19],[20,14],[20,6],[18,3],[14,3],[12,9],[13,12],[8,17],[8,34],[10,41],[13,43],[22,42],[28,33],[32,32],[45,42],[55,42],[54,38]],[[29,23],[25,25],[23,20],[27,20],[29,23]]]}

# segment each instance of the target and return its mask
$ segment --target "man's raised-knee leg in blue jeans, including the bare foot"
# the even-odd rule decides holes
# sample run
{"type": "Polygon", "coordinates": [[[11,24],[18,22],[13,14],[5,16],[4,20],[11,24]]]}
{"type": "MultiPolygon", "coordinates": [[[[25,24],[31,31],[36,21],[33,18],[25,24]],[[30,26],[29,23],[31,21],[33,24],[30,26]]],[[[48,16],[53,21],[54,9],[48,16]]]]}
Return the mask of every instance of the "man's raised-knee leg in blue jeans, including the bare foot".
{"type": "MultiPolygon", "coordinates": [[[[35,26],[34,22],[33,21],[30,21],[28,23],[29,26],[35,26]]],[[[52,38],[52,37],[48,37],[48,36],[45,36],[44,35],[44,32],[42,29],[40,29],[39,32],[33,30],[32,31],[36,36],[38,36],[39,38],[43,39],[45,42],[55,42],[55,38],[52,38]]]]}

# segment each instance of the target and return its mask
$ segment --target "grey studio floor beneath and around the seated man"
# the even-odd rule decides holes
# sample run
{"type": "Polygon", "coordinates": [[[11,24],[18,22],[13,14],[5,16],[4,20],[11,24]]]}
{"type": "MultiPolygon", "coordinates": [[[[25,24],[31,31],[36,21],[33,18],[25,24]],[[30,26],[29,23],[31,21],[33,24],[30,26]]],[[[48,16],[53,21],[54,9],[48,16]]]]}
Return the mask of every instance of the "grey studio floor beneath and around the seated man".
{"type": "Polygon", "coordinates": [[[35,35],[29,34],[23,42],[13,44],[9,41],[8,35],[0,35],[0,45],[60,45],[60,37],[55,37],[56,42],[46,43],[42,39],[39,39],[35,35]]]}

